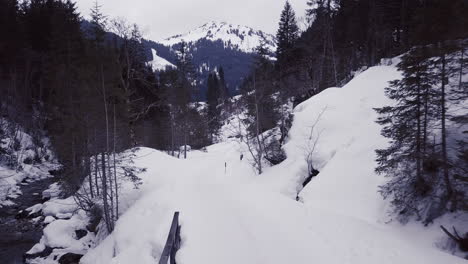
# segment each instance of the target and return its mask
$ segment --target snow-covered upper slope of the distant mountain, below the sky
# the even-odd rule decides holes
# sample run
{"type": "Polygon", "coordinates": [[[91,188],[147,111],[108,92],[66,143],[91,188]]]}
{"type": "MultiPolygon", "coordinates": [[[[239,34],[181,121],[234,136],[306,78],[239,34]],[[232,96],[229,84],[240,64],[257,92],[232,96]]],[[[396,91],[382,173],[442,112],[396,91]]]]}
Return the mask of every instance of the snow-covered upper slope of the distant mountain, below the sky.
{"type": "Polygon", "coordinates": [[[247,26],[232,25],[226,22],[209,22],[185,34],[176,35],[159,41],[166,46],[185,42],[197,42],[200,39],[222,40],[225,47],[237,48],[244,52],[252,52],[265,40],[270,51],[274,51],[275,37],[260,30],[254,30],[247,26]]]}

